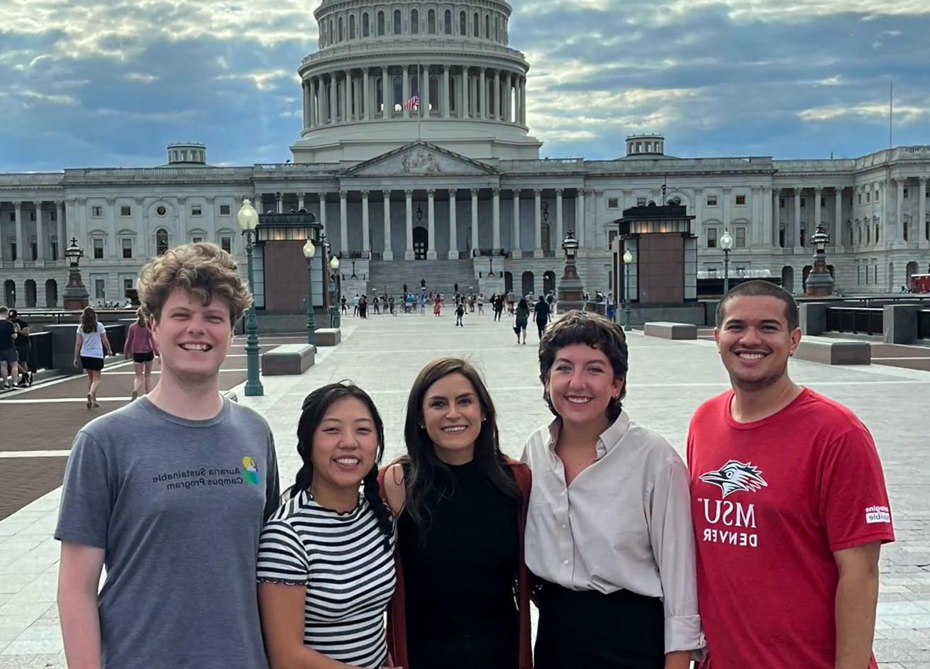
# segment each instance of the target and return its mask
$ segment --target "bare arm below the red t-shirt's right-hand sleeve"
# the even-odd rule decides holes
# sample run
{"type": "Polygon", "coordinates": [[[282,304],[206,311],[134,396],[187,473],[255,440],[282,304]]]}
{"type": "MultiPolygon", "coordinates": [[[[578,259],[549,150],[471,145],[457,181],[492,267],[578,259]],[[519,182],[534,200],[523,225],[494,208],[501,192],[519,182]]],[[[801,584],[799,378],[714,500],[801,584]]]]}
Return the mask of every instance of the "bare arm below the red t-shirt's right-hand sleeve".
{"type": "Polygon", "coordinates": [[[836,587],[836,669],[865,669],[871,658],[878,604],[878,555],[882,542],[833,553],[836,587]]]}

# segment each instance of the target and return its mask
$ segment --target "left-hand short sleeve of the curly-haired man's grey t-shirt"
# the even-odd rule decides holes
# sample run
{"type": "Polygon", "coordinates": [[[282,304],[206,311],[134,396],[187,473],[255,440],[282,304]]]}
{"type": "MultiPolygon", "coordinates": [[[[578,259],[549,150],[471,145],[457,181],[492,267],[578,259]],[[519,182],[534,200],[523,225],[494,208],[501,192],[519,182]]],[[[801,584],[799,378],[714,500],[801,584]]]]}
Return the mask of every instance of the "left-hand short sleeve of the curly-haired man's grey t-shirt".
{"type": "Polygon", "coordinates": [[[65,469],[55,538],[106,549],[113,514],[111,484],[100,444],[78,432],[65,469]]]}

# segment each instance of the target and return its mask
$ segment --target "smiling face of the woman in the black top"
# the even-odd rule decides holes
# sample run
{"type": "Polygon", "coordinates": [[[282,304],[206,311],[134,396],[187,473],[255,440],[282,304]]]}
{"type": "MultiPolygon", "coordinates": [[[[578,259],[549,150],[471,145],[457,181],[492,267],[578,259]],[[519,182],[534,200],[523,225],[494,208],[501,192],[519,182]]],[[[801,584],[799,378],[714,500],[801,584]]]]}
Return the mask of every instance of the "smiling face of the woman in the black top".
{"type": "Polygon", "coordinates": [[[427,389],[420,410],[436,457],[449,464],[470,462],[485,420],[472,381],[458,372],[446,374],[427,389]]]}

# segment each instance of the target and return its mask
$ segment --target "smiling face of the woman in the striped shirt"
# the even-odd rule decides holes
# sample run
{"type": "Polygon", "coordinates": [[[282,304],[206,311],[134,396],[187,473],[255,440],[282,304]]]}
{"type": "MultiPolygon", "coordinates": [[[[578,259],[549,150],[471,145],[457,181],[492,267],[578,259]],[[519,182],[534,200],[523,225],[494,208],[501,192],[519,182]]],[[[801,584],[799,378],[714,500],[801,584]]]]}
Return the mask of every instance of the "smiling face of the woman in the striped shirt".
{"type": "Polygon", "coordinates": [[[378,456],[378,431],[371,412],[355,397],[326,410],[313,432],[312,487],[358,490],[378,456]]]}

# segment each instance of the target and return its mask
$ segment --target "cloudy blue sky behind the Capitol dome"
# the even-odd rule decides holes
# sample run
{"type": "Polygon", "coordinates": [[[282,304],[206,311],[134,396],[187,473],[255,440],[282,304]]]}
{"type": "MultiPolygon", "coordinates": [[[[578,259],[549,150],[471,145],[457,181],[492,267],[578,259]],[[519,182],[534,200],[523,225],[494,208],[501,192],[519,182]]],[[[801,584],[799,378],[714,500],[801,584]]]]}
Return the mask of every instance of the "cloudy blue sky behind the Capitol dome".
{"type": "MultiPolygon", "coordinates": [[[[0,0],[0,172],[284,162],[319,0],[0,0]]],[[[630,132],[681,156],[930,144],[927,0],[512,0],[527,120],[552,157],[630,132]]]]}

